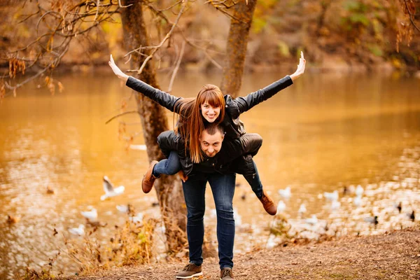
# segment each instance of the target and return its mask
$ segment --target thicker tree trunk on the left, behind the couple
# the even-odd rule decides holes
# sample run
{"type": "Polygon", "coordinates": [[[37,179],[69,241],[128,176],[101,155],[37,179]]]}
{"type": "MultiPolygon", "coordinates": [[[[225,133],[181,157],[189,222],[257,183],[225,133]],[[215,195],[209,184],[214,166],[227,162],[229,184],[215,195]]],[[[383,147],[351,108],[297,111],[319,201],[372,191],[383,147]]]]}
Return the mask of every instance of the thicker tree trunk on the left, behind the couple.
{"type": "MultiPolygon", "coordinates": [[[[142,1],[123,1],[123,6],[130,4],[132,6],[123,8],[121,13],[124,43],[127,51],[149,45],[148,33],[144,23],[142,1]]],[[[144,56],[133,52],[130,60],[131,68],[139,69],[144,59],[144,56]]],[[[152,59],[146,64],[146,67],[138,78],[153,87],[159,87],[152,59]]],[[[169,129],[167,117],[165,116],[166,109],[151,99],[144,97],[143,94],[137,94],[137,110],[141,117],[149,162],[151,160],[161,160],[163,155],[156,139],[161,132],[169,129]]],[[[139,176],[141,176],[141,173],[139,171],[139,176]]],[[[155,182],[155,189],[158,194],[160,210],[165,223],[167,248],[169,253],[174,253],[183,248],[187,243],[186,207],[183,207],[185,202],[181,183],[179,180],[176,180],[176,176],[162,176],[160,180],[155,182]]]]}

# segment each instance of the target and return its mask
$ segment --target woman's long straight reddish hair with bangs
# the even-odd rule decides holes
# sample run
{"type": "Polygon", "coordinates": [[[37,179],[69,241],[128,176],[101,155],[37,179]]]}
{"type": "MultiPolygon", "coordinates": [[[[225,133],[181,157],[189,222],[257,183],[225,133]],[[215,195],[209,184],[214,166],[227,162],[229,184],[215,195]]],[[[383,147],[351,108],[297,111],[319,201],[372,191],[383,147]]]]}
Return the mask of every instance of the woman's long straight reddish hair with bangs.
{"type": "Polygon", "coordinates": [[[225,117],[225,98],[216,85],[204,85],[196,98],[180,99],[179,104],[175,105],[180,106],[176,132],[184,140],[186,150],[190,150],[190,157],[194,163],[201,162],[204,159],[200,146],[200,136],[204,130],[204,122],[207,123],[201,111],[201,105],[204,103],[221,108],[221,113],[214,124],[221,123],[225,117]]]}

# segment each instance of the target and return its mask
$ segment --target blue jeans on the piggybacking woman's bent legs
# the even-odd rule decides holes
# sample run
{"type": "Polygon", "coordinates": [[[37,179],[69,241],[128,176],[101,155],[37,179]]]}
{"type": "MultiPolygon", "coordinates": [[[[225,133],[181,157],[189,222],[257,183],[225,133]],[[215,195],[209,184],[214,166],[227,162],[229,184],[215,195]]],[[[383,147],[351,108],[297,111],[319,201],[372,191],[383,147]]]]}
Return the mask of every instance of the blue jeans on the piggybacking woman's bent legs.
{"type": "MultiPolygon", "coordinates": [[[[237,158],[237,162],[239,160],[251,160],[253,163],[253,166],[255,168],[254,174],[243,174],[241,170],[234,170],[238,174],[243,174],[244,178],[248,182],[249,186],[251,186],[253,192],[255,195],[257,195],[258,198],[262,197],[262,183],[260,180],[260,175],[258,174],[257,166],[255,165],[255,162],[252,160],[251,155],[247,155],[245,157],[237,158]]],[[[155,167],[153,168],[153,176],[156,178],[160,177],[160,174],[166,174],[166,175],[174,175],[177,174],[181,170],[181,163],[179,162],[179,156],[176,151],[171,151],[169,154],[169,158],[167,160],[161,160],[158,162],[155,167]]]]}

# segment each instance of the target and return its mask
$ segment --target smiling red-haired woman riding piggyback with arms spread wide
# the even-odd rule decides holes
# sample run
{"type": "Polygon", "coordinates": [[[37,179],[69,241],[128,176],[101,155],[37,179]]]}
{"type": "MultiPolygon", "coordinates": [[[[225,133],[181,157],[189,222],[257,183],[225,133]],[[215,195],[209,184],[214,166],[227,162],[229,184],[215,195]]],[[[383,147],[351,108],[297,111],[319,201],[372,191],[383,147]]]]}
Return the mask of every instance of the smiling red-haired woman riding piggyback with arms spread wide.
{"type": "MultiPolygon", "coordinates": [[[[185,175],[184,179],[188,178],[188,175],[193,169],[193,164],[203,159],[200,149],[200,135],[204,130],[205,124],[221,123],[225,128],[225,141],[244,137],[246,132],[244,130],[244,124],[239,120],[239,115],[269,97],[272,97],[280,90],[292,85],[293,81],[304,73],[305,64],[306,61],[303,57],[303,52],[301,52],[300,62],[297,65],[295,73],[277,80],[262,90],[252,92],[246,97],[232,99],[228,94],[223,96],[221,90],[216,85],[204,85],[197,98],[183,99],[182,97],[174,97],[171,94],[162,92],[141,80],[126,75],[116,66],[111,55],[109,66],[111,66],[111,69],[113,69],[113,72],[118,78],[125,81],[128,87],[131,87],[137,92],[141,92],[146,97],[165,106],[170,111],[179,114],[176,133],[179,134],[185,144],[186,151],[190,154],[188,157],[181,155],[180,158],[179,153],[172,152],[169,154],[167,160],[161,160],[160,162],[152,161],[148,172],[144,176],[142,184],[144,192],[148,193],[153,188],[153,183],[160,174],[176,174],[176,172],[181,170],[181,167],[185,175]]],[[[236,172],[244,175],[255,195],[262,202],[265,211],[270,215],[275,215],[276,204],[262,190],[258,170],[251,155],[244,156],[241,162],[237,164],[236,172]]]]}

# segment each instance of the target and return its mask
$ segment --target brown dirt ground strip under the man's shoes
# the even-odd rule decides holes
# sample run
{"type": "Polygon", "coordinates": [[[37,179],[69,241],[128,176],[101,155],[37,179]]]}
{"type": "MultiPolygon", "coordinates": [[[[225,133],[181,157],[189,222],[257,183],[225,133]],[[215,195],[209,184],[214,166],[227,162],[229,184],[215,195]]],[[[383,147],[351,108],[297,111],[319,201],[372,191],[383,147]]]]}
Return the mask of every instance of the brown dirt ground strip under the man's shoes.
{"type": "MultiPolygon", "coordinates": [[[[187,260],[186,260],[187,262],[187,260]]],[[[386,235],[344,237],[235,255],[235,279],[420,279],[420,228],[386,235]]],[[[171,262],[123,267],[67,279],[174,279],[185,265],[171,262]]],[[[220,279],[218,260],[207,258],[203,276],[220,279]]]]}

